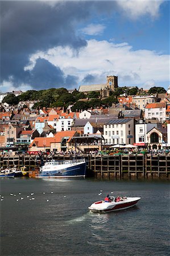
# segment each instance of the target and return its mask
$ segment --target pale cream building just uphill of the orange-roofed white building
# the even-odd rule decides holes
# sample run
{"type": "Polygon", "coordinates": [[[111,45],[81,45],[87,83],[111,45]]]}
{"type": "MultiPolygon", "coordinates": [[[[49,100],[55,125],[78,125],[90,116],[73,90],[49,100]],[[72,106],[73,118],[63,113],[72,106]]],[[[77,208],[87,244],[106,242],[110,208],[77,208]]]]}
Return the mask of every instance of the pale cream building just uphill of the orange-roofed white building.
{"type": "Polygon", "coordinates": [[[155,103],[157,100],[157,94],[151,96],[134,96],[132,97],[132,103],[134,103],[139,109],[144,111],[146,104],[155,103]]]}

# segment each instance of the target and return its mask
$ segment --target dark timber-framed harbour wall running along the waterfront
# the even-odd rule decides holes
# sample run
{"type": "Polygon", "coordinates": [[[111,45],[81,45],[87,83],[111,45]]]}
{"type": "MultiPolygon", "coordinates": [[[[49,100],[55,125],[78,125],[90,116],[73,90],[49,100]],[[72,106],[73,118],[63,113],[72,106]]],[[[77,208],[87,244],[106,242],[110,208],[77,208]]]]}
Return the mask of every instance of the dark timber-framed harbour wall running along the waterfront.
{"type": "MultiPolygon", "coordinates": [[[[87,162],[87,176],[98,179],[169,179],[170,155],[81,155],[87,162]]],[[[73,159],[71,155],[1,155],[1,167],[18,168],[26,166],[27,171],[35,170],[42,161],[73,159]]]]}

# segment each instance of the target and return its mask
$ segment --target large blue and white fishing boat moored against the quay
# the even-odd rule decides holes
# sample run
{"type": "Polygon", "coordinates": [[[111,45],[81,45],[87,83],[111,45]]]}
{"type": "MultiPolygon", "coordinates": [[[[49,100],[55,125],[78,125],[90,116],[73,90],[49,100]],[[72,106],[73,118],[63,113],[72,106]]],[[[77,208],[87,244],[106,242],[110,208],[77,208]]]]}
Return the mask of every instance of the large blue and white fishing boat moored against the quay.
{"type": "Polygon", "coordinates": [[[84,178],[85,159],[46,162],[35,177],[84,178]]]}

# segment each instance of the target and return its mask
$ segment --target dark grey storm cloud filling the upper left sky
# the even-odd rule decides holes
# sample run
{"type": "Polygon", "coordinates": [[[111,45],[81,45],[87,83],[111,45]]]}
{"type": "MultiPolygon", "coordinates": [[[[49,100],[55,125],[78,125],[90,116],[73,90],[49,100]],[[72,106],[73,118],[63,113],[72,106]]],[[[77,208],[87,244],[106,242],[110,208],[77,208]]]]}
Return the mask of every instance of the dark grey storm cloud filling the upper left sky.
{"type": "MultiPolygon", "coordinates": [[[[24,71],[29,57],[37,51],[46,51],[56,46],[70,46],[77,52],[86,46],[86,40],[76,33],[76,26],[91,17],[91,14],[110,10],[113,3],[107,1],[1,1],[1,82],[13,78],[14,85],[31,83],[45,86],[50,82],[60,84],[64,74],[59,68],[38,60],[32,77],[24,71]],[[95,11],[94,11],[95,10],[95,11]],[[48,70],[39,77],[40,66],[48,70]],[[55,73],[56,72],[56,76],[55,73]],[[35,79],[35,80],[34,80],[35,79]],[[42,85],[41,85],[42,84],[42,85]]],[[[76,77],[67,77],[69,83],[76,77]]],[[[50,85],[49,85],[50,86],[50,85]]]]}

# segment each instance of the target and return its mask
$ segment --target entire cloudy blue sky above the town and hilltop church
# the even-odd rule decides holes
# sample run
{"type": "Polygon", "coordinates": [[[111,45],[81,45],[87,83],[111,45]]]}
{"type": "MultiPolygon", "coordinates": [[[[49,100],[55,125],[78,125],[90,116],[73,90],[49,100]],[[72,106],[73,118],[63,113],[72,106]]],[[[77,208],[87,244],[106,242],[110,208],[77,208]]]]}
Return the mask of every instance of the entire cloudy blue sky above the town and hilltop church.
{"type": "Polygon", "coordinates": [[[169,1],[0,1],[0,92],[169,82],[169,1]]]}

